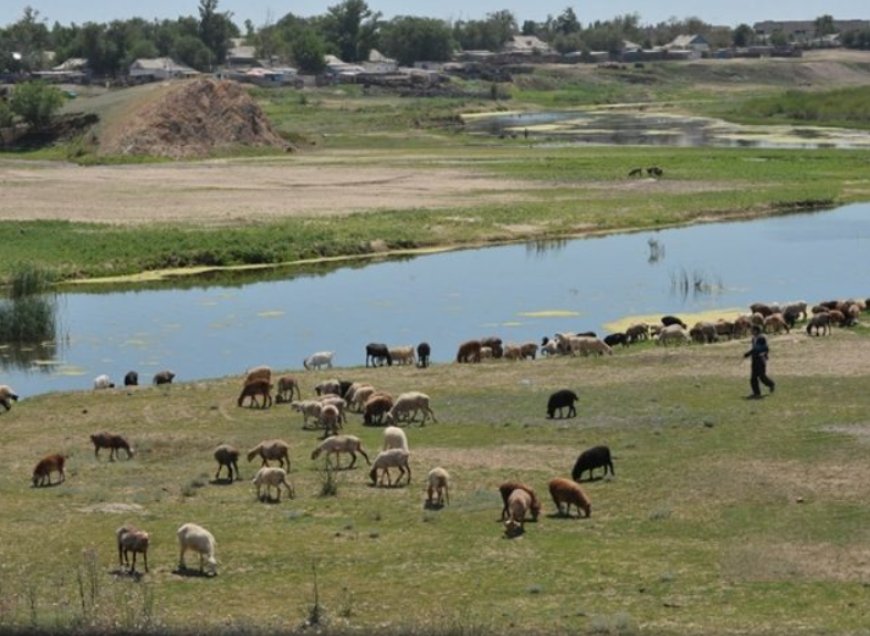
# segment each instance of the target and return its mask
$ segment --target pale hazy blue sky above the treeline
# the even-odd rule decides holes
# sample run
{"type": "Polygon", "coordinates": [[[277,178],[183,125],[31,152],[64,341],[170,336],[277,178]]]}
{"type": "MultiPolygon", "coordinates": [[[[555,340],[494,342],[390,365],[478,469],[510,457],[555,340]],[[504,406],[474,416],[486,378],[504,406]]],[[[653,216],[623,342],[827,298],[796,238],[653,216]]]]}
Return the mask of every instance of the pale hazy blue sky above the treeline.
{"type": "MultiPolygon", "coordinates": [[[[321,15],[330,6],[342,0],[218,0],[218,11],[232,13],[233,21],[242,28],[245,20],[255,26],[275,22],[288,13],[302,17],[321,15]]],[[[870,19],[867,0],[598,0],[577,3],[570,0],[366,0],[370,9],[380,11],[384,18],[397,15],[417,15],[445,20],[477,20],[486,14],[506,9],[522,25],[525,20],[542,22],[548,15],[557,16],[571,7],[580,22],[586,26],[595,20],[609,20],[626,13],[640,15],[641,24],[655,24],[672,17],[683,19],[698,17],[714,24],[735,27],[740,23],[753,24],[762,20],[814,20],[830,14],[835,19],[870,19]]],[[[138,0],[2,0],[0,25],[18,21],[26,6],[39,12],[39,18],[48,26],[54,22],[63,25],[85,22],[110,22],[140,17],[175,19],[182,15],[199,15],[199,0],[150,0],[144,5],[138,0]]]]}

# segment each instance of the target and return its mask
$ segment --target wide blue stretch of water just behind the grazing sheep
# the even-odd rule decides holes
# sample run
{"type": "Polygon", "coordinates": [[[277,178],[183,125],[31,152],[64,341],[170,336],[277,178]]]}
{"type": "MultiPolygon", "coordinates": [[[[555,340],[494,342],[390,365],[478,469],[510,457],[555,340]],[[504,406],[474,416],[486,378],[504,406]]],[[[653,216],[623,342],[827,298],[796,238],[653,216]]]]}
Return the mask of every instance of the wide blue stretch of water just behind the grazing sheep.
{"type": "Polygon", "coordinates": [[[57,341],[0,349],[0,384],[28,396],[89,389],[101,373],[120,383],[130,369],[149,382],[164,368],[190,381],[258,364],[298,369],[319,350],[334,350],[339,367],[357,366],[371,341],[426,340],[433,360],[448,362],[461,341],[485,335],[540,342],[557,331],[607,333],[626,317],[866,298],[868,248],[870,204],[858,204],[280,279],[67,292],[56,298],[57,341]]]}

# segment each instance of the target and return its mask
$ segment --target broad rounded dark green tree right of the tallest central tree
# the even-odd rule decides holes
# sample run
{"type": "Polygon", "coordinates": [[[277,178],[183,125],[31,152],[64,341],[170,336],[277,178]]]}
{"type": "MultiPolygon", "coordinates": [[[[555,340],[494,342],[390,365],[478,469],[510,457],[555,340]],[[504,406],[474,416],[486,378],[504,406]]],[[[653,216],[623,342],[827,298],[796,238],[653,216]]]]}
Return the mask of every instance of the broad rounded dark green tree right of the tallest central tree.
{"type": "Polygon", "coordinates": [[[453,52],[453,37],[442,20],[399,16],[383,25],[381,47],[404,66],[420,60],[444,62],[453,52]]]}

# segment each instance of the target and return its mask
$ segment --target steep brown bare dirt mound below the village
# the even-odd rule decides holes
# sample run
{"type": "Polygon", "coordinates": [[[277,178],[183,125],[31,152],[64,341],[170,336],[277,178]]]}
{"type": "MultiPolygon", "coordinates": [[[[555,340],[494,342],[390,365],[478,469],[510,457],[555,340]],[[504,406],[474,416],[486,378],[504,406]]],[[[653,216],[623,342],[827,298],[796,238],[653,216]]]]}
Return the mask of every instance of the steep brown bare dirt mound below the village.
{"type": "Polygon", "coordinates": [[[100,154],[205,157],[239,146],[289,150],[263,111],[236,82],[173,83],[128,112],[100,138],[100,154]]]}

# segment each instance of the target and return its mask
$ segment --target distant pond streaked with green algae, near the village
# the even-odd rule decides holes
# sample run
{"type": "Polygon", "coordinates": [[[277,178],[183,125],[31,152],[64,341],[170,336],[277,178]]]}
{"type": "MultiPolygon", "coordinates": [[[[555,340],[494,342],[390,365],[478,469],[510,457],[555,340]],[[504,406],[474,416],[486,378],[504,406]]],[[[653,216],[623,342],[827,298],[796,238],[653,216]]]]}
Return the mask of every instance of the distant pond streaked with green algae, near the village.
{"type": "Polygon", "coordinates": [[[870,148],[870,132],[822,126],[741,125],[710,117],[636,110],[466,115],[471,134],[535,143],[681,147],[870,148]]]}

